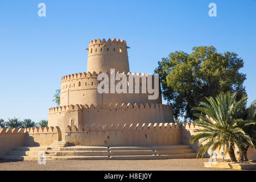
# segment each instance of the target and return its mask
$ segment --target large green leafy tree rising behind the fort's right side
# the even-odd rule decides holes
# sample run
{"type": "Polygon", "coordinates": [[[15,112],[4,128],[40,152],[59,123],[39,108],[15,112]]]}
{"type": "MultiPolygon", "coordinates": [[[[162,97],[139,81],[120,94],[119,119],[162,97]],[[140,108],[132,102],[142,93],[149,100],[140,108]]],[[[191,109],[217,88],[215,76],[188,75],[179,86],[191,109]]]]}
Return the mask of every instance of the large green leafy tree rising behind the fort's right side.
{"type": "Polygon", "coordinates": [[[162,94],[174,108],[174,117],[196,119],[196,111],[205,97],[215,97],[220,92],[237,92],[237,100],[245,94],[240,73],[243,60],[234,52],[218,53],[213,46],[193,47],[191,53],[176,51],[158,62],[162,94]]]}

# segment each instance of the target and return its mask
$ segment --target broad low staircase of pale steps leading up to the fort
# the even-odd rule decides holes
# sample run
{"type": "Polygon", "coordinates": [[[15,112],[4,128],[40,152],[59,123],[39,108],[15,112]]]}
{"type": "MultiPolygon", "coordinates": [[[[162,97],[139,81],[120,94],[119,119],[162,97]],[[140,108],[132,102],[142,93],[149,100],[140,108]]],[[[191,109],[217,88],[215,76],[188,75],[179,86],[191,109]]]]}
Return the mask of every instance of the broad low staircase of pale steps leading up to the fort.
{"type": "MultiPolygon", "coordinates": [[[[53,142],[49,147],[15,147],[2,159],[38,160],[39,152],[45,152],[46,160],[91,159],[181,159],[196,158],[189,145],[151,147],[100,147],[67,146],[67,142],[53,142]]],[[[42,154],[42,153],[41,153],[42,154]]]]}

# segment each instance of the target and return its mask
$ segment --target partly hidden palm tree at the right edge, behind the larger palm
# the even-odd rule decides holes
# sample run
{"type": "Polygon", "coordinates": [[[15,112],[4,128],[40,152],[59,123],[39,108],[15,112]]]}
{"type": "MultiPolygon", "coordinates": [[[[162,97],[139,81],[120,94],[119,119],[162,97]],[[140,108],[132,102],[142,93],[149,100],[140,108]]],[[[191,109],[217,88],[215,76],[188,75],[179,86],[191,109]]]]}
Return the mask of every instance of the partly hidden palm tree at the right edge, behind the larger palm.
{"type": "MultiPolygon", "coordinates": [[[[246,97],[246,96],[244,96],[246,97]]],[[[246,107],[247,105],[247,97],[246,100],[242,103],[242,109],[240,112],[236,114],[237,125],[240,127],[253,141],[253,145],[247,142],[247,140],[243,140],[241,146],[238,146],[239,159],[240,161],[248,161],[247,158],[247,150],[250,146],[254,147],[256,145],[256,100],[253,103],[246,107]]]]}

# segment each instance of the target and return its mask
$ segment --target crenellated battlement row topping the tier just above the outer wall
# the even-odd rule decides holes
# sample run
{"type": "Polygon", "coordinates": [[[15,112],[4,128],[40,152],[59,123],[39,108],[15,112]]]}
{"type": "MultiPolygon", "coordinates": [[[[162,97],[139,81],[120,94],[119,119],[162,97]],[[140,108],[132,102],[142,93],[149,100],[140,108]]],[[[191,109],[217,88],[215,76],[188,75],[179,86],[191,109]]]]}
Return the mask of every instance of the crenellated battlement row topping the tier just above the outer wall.
{"type": "Polygon", "coordinates": [[[79,110],[100,110],[100,109],[159,109],[159,110],[168,110],[172,109],[172,106],[170,105],[162,105],[162,104],[131,104],[131,103],[110,103],[110,105],[104,104],[103,106],[97,105],[94,106],[91,104],[90,106],[88,105],[68,105],[68,106],[59,106],[59,107],[52,107],[49,108],[49,114],[53,113],[60,113],[60,112],[67,112],[67,111],[79,111],[79,110]]]}

